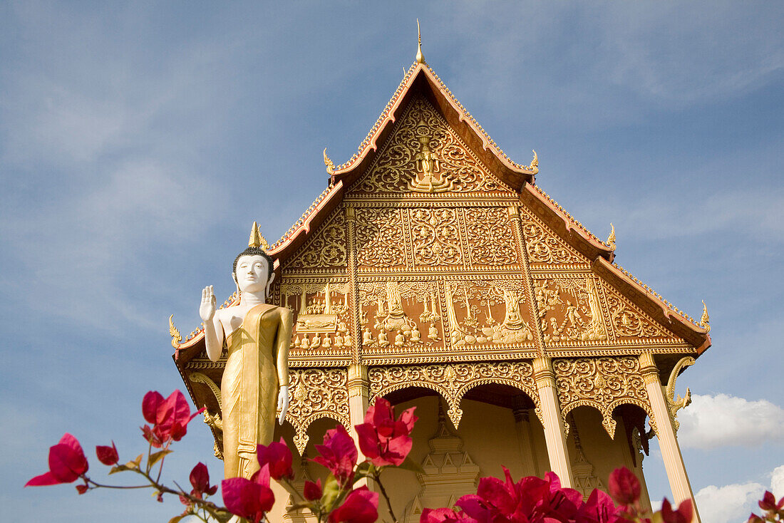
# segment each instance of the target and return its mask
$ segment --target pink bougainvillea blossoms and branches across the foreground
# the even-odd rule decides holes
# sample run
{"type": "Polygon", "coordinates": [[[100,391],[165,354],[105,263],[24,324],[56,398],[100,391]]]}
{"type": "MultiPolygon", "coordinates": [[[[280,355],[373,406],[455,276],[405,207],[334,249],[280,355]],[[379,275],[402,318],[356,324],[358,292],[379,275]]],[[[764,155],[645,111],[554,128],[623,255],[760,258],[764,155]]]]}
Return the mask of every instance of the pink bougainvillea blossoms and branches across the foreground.
{"type": "MultiPolygon", "coordinates": [[[[327,430],[323,443],[316,445],[318,456],[312,459],[328,470],[325,481],[305,481],[299,492],[293,484],[292,452],[283,438],[270,445],[258,445],[260,470],[250,479],[223,480],[224,506],[219,506],[207,499],[216,494],[217,485],[209,484],[204,463],[197,463],[191,470],[190,492],[176,483],[175,488],[161,483],[163,463],[172,452],[172,443],[187,434],[187,424],[202,410],[191,414],[191,408],[179,390],[165,399],[158,392],[148,392],[142,402],[142,414],[151,425],[141,427],[147,441],[146,458],[142,453],[121,464],[114,442],[111,447],[96,446],[98,460],[111,467],[108,474],[136,474],[140,476],[140,485],[107,485],[94,481],[87,475],[89,464],[82,445],[71,434],[65,434],[49,449],[49,470],[27,481],[25,486],[80,480],[76,485],[79,494],[95,488],[152,488],[158,501],[169,494],[178,496],[185,506],[169,523],[177,523],[186,516],[221,523],[235,517],[240,521],[268,523],[267,514],[275,502],[270,488],[270,480],[274,479],[294,500],[290,512],[309,510],[319,523],[374,523],[379,520],[379,498],[382,496],[384,508],[380,519],[397,523],[400,520],[394,514],[392,501],[383,486],[383,470],[391,467],[422,471],[408,457],[413,445],[411,432],[417,420],[414,408],[395,418],[389,401],[377,398],[365,414],[365,423],[355,426],[364,461],[358,463],[354,439],[343,425],[338,424],[327,430]],[[372,484],[372,490],[368,483],[372,484]]],[[[506,467],[503,467],[503,473],[503,480],[481,478],[476,494],[459,498],[455,507],[424,509],[420,523],[690,523],[693,518],[690,499],[678,507],[664,499],[661,510],[648,514],[640,503],[640,481],[625,467],[610,474],[609,493],[594,489],[585,501],[581,492],[562,487],[552,472],[545,474],[545,478],[529,476],[517,482],[512,480],[506,467]]],[[[748,523],[784,521],[784,498],[777,502],[771,492],[765,492],[759,505],[763,515],[751,514],[748,523]]]]}

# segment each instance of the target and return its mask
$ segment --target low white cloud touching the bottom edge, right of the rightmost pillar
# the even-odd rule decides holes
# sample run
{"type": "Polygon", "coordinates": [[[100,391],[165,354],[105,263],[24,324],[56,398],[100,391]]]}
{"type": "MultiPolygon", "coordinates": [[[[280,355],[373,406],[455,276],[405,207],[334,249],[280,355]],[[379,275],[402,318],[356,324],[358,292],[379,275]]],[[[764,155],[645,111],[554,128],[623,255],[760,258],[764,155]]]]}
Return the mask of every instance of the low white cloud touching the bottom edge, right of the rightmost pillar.
{"type": "Polygon", "coordinates": [[[710,523],[737,523],[746,521],[765,487],[759,483],[709,485],[695,494],[699,516],[710,523]]]}

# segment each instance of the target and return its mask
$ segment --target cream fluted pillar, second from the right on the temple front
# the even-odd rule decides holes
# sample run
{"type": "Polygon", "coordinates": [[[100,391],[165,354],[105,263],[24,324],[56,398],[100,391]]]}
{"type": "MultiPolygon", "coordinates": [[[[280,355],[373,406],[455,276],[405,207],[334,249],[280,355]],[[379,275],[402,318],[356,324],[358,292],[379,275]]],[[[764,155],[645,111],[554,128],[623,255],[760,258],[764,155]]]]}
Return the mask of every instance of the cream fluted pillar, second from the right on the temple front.
{"type": "Polygon", "coordinates": [[[555,373],[550,358],[534,360],[534,380],[539,392],[539,408],[542,409],[544,438],[547,443],[547,456],[550,469],[561,478],[561,485],[572,488],[572,464],[566,449],[566,433],[564,432],[561,408],[555,392],[555,373]]]}

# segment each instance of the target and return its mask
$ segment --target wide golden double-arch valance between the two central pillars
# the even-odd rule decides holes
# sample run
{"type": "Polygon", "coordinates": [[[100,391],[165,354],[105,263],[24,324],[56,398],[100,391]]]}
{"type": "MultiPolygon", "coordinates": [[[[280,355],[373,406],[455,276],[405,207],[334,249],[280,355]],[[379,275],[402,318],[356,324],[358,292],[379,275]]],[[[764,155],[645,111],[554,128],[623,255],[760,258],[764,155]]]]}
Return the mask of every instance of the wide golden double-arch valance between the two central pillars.
{"type": "Polygon", "coordinates": [[[435,390],[446,400],[447,415],[456,428],[463,417],[460,400],[474,387],[485,383],[499,383],[522,390],[539,410],[539,394],[533,378],[533,367],[525,361],[499,363],[459,363],[450,365],[406,365],[396,367],[371,367],[370,400],[407,387],[426,387],[435,390]]]}

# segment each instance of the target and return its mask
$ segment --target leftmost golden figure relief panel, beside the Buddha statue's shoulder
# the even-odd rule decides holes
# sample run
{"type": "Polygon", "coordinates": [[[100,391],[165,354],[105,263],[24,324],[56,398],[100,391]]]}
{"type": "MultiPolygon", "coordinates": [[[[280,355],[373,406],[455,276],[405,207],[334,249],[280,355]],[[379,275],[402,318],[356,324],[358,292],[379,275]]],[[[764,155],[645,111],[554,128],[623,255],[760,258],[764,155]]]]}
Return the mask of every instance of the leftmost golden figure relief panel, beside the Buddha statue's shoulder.
{"type": "Polygon", "coordinates": [[[275,301],[294,312],[292,365],[300,357],[348,356],[356,337],[352,329],[353,300],[346,278],[283,277],[275,289],[275,301]]]}

